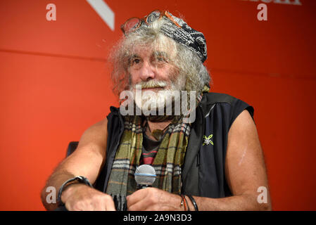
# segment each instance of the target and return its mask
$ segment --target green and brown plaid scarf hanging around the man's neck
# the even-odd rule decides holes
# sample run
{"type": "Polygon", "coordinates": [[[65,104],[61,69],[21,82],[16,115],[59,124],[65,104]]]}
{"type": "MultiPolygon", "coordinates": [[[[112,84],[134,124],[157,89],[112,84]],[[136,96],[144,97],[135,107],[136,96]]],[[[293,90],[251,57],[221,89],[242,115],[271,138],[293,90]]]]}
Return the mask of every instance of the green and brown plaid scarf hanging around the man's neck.
{"type": "MultiPolygon", "coordinates": [[[[203,89],[206,90],[209,89],[203,89]]],[[[196,106],[201,98],[201,94],[196,98],[196,106]]],[[[174,117],[151,165],[156,171],[156,180],[152,186],[176,194],[181,193],[181,168],[191,127],[191,124],[184,123],[182,119],[183,117],[174,117]]],[[[143,124],[144,117],[125,116],[124,131],[106,188],[106,193],[112,196],[117,210],[126,210],[126,196],[137,191],[134,172],[141,158],[143,124]]]]}

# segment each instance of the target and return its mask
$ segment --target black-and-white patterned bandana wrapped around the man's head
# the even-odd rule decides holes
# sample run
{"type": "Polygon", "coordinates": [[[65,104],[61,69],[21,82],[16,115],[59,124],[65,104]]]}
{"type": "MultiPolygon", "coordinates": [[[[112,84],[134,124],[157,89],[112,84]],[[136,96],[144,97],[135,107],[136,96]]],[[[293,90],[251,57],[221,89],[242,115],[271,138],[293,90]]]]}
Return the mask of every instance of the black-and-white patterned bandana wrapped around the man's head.
{"type": "MultiPolygon", "coordinates": [[[[206,58],[208,58],[204,34],[189,27],[184,20],[175,17],[171,13],[169,14],[181,27],[177,27],[171,20],[166,20],[167,23],[161,27],[161,32],[196,53],[202,63],[204,63],[206,58]]],[[[140,27],[148,27],[148,25],[141,23],[140,27]]]]}

